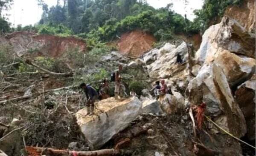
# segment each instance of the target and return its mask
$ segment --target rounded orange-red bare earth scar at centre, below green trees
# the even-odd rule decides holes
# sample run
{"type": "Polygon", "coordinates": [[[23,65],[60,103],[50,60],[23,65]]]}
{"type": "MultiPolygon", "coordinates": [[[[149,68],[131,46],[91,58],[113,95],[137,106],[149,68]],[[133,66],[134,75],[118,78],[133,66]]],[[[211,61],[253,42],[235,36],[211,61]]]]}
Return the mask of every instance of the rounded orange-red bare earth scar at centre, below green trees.
{"type": "Polygon", "coordinates": [[[140,57],[152,48],[156,41],[153,35],[144,31],[135,30],[122,34],[118,43],[119,51],[134,57],[140,57]]]}

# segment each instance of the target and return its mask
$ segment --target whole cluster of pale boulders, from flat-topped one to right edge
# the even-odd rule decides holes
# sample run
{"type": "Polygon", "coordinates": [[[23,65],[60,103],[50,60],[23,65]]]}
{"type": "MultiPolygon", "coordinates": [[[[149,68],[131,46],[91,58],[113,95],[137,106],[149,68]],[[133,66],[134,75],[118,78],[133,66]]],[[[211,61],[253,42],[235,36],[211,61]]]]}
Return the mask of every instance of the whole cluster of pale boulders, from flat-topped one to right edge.
{"type": "MultiPolygon", "coordinates": [[[[221,128],[239,138],[246,135],[253,140],[256,104],[253,34],[230,17],[211,26],[205,31],[194,58],[192,74],[195,77],[189,75],[188,51],[185,42],[180,45],[166,43],[130,63],[116,52],[104,57],[105,60],[124,59],[132,68],[145,69],[154,80],[165,79],[173,95],[166,94],[156,100],[143,90],[140,99],[134,96],[123,101],[100,101],[96,104],[99,112],[95,116],[83,116],[84,110],[79,111],[76,113],[78,123],[90,147],[97,149],[104,145],[140,113],[171,114],[202,102],[207,105],[206,114],[221,128]],[[177,64],[177,54],[181,55],[182,64],[177,64]]],[[[154,81],[150,79],[149,82],[154,81]]],[[[212,132],[223,133],[213,127],[212,132]]]]}

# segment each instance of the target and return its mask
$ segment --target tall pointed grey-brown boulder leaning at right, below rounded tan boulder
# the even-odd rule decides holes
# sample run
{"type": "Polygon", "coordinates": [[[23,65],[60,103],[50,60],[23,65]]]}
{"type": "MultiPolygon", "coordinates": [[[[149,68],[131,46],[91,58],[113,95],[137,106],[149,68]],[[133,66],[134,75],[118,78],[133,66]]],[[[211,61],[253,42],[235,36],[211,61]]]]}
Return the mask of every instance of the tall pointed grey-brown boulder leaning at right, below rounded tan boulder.
{"type": "Polygon", "coordinates": [[[214,121],[230,133],[241,137],[246,133],[244,115],[232,96],[227,78],[216,64],[204,65],[197,77],[189,82],[186,104],[207,104],[207,112],[217,116],[214,121]]]}

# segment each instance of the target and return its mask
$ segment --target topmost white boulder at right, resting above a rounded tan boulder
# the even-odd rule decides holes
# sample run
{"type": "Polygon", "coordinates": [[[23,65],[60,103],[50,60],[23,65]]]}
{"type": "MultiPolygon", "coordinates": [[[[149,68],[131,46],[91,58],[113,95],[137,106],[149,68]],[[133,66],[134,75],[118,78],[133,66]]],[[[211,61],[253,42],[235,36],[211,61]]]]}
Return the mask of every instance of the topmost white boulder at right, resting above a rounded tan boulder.
{"type": "Polygon", "coordinates": [[[228,17],[223,17],[221,23],[209,27],[204,32],[196,53],[197,61],[200,64],[212,61],[219,48],[245,57],[256,57],[254,35],[228,17]]]}

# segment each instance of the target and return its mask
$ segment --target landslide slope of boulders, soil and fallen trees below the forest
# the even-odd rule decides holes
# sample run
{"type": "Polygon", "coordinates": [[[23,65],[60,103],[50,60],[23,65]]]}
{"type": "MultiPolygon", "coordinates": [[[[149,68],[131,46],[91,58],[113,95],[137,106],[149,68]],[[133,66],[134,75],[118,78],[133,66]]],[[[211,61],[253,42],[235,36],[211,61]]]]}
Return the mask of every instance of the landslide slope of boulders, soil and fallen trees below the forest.
{"type": "Polygon", "coordinates": [[[125,44],[125,54],[140,58],[119,51],[92,57],[81,52],[83,42],[71,38],[31,33],[23,38],[20,32],[0,37],[21,56],[0,67],[0,156],[253,156],[255,6],[246,0],[241,8],[228,8],[221,22],[204,32],[198,51],[187,40],[150,49],[154,38],[141,31],[124,34],[119,43],[125,44]],[[147,40],[137,42],[137,36],[147,40]],[[27,58],[35,47],[56,60],[78,47],[79,53],[70,53],[76,68],[66,67],[67,73],[42,69],[27,58]],[[21,72],[21,63],[32,65],[33,72],[21,72]],[[98,101],[94,114],[86,115],[77,85],[97,86],[95,80],[109,78],[106,73],[120,64],[128,96],[98,101]],[[172,94],[156,99],[149,89],[160,79],[172,94]]]}

